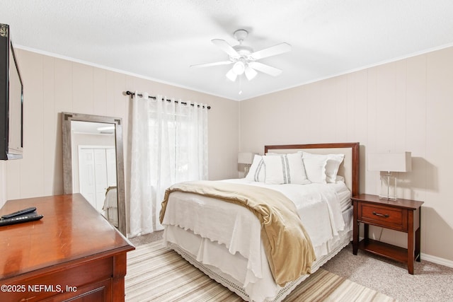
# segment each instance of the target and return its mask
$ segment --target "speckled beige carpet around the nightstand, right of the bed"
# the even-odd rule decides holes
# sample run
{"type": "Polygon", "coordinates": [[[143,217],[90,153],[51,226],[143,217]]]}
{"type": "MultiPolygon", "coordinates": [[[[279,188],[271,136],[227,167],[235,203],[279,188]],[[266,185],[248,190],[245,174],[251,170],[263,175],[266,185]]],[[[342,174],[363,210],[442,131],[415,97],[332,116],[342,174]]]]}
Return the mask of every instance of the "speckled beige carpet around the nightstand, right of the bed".
{"type": "Polygon", "coordinates": [[[352,255],[352,246],[348,245],[322,268],[399,302],[453,302],[453,267],[423,257],[415,262],[414,274],[409,274],[404,263],[363,250],[352,255]]]}

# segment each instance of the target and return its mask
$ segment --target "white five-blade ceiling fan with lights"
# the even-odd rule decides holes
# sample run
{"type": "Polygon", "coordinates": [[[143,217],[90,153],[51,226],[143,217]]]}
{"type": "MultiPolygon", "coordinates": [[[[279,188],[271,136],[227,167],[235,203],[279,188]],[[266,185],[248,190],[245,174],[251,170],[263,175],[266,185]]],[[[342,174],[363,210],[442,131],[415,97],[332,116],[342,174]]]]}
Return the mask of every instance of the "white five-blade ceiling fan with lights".
{"type": "Polygon", "coordinates": [[[231,81],[236,81],[237,76],[240,76],[241,74],[245,74],[248,81],[250,81],[258,74],[257,71],[263,72],[264,74],[270,74],[271,76],[278,76],[279,74],[281,74],[281,69],[260,63],[258,62],[258,60],[289,52],[291,51],[291,45],[284,42],[272,47],[265,48],[263,50],[258,50],[257,52],[253,52],[253,49],[251,47],[243,45],[243,40],[246,39],[247,35],[247,30],[236,30],[234,32],[234,37],[236,38],[236,40],[238,40],[239,45],[234,46],[229,45],[229,43],[225,40],[211,40],[214,45],[216,45],[229,55],[228,61],[197,64],[191,65],[190,67],[208,67],[233,64],[233,67],[231,67],[231,69],[226,73],[226,77],[231,81]]]}

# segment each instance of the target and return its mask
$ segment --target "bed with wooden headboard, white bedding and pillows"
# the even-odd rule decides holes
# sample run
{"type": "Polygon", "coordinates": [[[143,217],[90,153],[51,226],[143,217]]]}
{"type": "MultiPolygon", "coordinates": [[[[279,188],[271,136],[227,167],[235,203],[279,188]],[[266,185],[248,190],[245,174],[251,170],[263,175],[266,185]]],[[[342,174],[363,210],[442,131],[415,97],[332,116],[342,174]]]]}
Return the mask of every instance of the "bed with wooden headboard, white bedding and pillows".
{"type": "MultiPolygon", "coordinates": [[[[246,178],[215,185],[284,195],[294,205],[299,223],[302,221],[302,237],[309,238],[306,248],[287,248],[288,241],[264,236],[278,232],[274,228],[266,231],[255,210],[224,202],[215,194],[176,190],[180,188],[176,185],[175,190],[167,190],[161,211],[164,245],[246,301],[282,301],[348,245],[352,238],[350,197],[359,192],[359,143],[274,145],[265,146],[264,151],[265,156],[254,158],[246,178]],[[302,178],[299,168],[304,170],[302,178]],[[288,255],[283,262],[282,257],[270,256],[277,243],[287,249],[280,251],[280,255],[288,255]],[[305,262],[304,257],[310,261],[305,262]],[[304,272],[297,277],[280,278],[294,267],[290,265],[293,259],[302,259],[309,267],[297,271],[304,272]]],[[[286,216],[282,221],[288,222],[283,229],[292,228],[286,216]]]]}

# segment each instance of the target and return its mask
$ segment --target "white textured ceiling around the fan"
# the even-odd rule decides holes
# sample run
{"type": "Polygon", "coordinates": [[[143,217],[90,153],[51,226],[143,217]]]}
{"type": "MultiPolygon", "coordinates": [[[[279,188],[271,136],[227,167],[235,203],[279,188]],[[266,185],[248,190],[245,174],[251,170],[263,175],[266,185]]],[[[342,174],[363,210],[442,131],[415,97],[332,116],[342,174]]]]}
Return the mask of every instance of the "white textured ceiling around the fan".
{"type": "Polygon", "coordinates": [[[232,100],[453,45],[452,0],[2,0],[0,23],[18,48],[232,100]],[[253,50],[292,45],[260,61],[280,76],[190,68],[228,59],[211,40],[236,45],[239,28],[253,50]]]}

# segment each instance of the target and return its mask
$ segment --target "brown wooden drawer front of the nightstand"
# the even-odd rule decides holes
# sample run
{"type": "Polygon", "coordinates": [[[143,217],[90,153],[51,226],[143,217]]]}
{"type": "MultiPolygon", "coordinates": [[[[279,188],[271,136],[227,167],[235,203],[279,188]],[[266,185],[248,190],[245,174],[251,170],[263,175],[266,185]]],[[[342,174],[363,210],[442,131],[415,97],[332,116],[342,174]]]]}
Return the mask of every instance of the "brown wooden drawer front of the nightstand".
{"type": "Polygon", "coordinates": [[[407,209],[360,203],[357,219],[375,226],[408,231],[407,209]]]}

